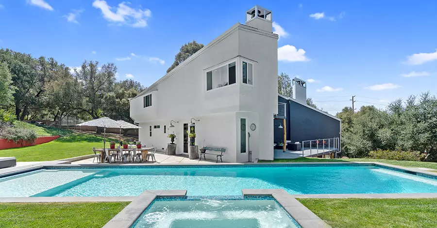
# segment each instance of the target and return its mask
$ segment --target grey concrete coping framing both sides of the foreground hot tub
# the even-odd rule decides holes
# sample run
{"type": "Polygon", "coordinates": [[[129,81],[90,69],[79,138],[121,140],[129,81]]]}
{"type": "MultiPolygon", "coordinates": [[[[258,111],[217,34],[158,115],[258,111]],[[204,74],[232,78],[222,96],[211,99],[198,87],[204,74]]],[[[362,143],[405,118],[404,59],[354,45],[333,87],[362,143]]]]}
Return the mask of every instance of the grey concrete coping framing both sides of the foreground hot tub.
{"type": "MultiPolygon", "coordinates": [[[[322,219],[283,189],[243,189],[243,196],[271,196],[302,228],[330,228],[322,219]]],[[[103,228],[130,228],[157,197],[185,197],[186,190],[145,191],[103,228]]]]}

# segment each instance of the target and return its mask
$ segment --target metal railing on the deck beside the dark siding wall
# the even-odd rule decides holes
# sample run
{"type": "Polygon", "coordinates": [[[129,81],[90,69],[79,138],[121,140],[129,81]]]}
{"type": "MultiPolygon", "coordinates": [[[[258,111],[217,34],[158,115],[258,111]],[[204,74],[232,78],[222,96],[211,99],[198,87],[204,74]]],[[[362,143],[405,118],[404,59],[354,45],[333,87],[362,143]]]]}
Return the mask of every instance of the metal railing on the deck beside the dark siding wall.
{"type": "Polygon", "coordinates": [[[336,152],[339,152],[341,148],[340,143],[339,137],[302,141],[302,157],[308,152],[310,157],[313,154],[321,153],[322,155],[326,152],[334,152],[337,155],[336,152]]]}

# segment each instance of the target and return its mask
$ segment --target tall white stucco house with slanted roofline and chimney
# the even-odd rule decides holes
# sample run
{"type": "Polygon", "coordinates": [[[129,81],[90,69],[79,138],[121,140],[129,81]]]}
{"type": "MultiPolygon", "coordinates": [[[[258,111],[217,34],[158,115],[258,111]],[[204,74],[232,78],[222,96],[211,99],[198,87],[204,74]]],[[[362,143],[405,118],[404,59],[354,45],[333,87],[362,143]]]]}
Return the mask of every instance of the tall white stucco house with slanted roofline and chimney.
{"type": "Polygon", "coordinates": [[[199,147],[226,148],[223,161],[247,162],[249,151],[252,161],[272,160],[278,35],[271,16],[253,7],[245,25],[236,23],[131,99],[139,140],[165,150],[174,133],[182,154],[189,150],[186,131],[195,131],[199,147]]]}

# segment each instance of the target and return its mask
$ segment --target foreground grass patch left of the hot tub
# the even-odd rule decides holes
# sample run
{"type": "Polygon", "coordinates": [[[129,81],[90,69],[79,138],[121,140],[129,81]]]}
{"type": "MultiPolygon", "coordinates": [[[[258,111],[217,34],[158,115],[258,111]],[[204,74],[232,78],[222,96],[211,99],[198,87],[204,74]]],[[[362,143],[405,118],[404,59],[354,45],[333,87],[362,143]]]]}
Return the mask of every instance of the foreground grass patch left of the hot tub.
{"type": "Polygon", "coordinates": [[[1,228],[101,228],[129,202],[0,203],[1,228]]]}

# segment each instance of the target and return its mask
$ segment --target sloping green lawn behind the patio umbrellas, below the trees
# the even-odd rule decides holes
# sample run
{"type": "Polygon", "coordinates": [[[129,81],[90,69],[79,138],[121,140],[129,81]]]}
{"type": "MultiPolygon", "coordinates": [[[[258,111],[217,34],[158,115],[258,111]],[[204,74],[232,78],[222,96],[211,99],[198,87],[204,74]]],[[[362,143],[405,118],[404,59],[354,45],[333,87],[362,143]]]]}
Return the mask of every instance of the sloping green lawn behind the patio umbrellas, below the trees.
{"type": "MultiPolygon", "coordinates": [[[[106,140],[107,147],[110,140],[106,140]]],[[[92,154],[93,147],[102,148],[103,137],[73,133],[40,145],[1,150],[0,157],[16,157],[17,162],[52,161],[92,154]]]]}

